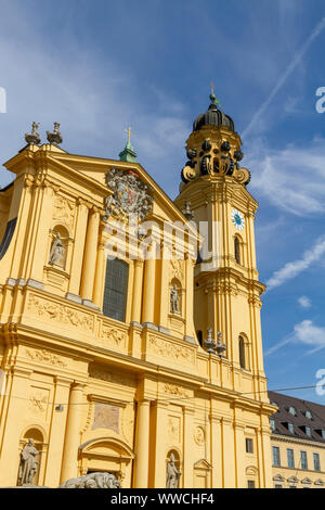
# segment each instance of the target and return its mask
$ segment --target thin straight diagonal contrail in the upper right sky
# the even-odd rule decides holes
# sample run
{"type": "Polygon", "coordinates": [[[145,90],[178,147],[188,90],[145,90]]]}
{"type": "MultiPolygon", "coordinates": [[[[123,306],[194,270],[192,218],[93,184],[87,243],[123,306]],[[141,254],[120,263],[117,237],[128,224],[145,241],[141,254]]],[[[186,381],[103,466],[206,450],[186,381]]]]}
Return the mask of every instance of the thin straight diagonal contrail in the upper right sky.
{"type": "Polygon", "coordinates": [[[247,128],[244,130],[242,138],[247,137],[251,132],[253,127],[257,126],[258,123],[262,119],[262,116],[263,116],[264,112],[266,111],[269,104],[273,100],[273,98],[276,95],[278,90],[286,82],[286,80],[288,79],[290,74],[296,69],[298,64],[301,62],[303,55],[306,54],[306,52],[311,47],[312,42],[316,39],[316,37],[318,37],[322,34],[324,28],[325,28],[325,17],[323,17],[317,23],[317,25],[314,27],[314,29],[311,33],[311,35],[309,36],[309,38],[306,40],[306,42],[302,44],[302,47],[299,49],[299,51],[297,51],[296,55],[294,56],[294,59],[291,60],[291,62],[289,63],[289,65],[285,69],[285,72],[281,74],[280,79],[277,80],[276,85],[273,87],[273,89],[272,89],[271,93],[269,94],[268,99],[262,103],[260,109],[257,111],[257,113],[253,115],[252,119],[248,124],[247,128]]]}

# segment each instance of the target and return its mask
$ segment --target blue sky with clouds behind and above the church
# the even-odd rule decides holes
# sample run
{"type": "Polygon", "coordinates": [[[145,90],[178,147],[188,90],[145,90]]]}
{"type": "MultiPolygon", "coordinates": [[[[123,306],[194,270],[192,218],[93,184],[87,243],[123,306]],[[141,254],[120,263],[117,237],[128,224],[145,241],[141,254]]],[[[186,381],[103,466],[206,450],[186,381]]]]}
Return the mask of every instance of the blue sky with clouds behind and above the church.
{"type": "MultiPolygon", "coordinates": [[[[132,126],[139,162],[178,194],[184,142],[209,84],[243,136],[256,220],[269,387],[325,368],[325,4],[320,0],[0,0],[0,155],[44,139],[117,158],[132,126]]],[[[4,169],[0,186],[12,180],[4,169]]],[[[287,392],[325,404],[314,390],[287,392]]]]}

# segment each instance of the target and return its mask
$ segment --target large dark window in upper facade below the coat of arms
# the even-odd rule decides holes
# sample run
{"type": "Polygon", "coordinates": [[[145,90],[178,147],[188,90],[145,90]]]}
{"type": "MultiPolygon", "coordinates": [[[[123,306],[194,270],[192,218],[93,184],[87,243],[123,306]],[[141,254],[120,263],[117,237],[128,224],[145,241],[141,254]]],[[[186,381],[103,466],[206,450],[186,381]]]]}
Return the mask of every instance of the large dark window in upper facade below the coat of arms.
{"type": "Polygon", "coordinates": [[[103,314],[113,319],[126,320],[129,265],[115,258],[107,259],[103,314]]]}

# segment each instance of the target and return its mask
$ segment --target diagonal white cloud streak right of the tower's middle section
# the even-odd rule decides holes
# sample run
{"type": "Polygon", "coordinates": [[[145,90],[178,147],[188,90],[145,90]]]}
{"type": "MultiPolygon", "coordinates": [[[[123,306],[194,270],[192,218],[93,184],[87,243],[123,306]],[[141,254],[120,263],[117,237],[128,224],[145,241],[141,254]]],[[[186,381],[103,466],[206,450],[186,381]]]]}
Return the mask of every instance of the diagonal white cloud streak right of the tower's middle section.
{"type": "Polygon", "coordinates": [[[285,264],[281,269],[275,271],[266,281],[268,290],[275,289],[288,280],[300,275],[308,269],[313,263],[320,260],[325,254],[325,235],[320,237],[311,250],[307,250],[302,257],[285,264]]]}

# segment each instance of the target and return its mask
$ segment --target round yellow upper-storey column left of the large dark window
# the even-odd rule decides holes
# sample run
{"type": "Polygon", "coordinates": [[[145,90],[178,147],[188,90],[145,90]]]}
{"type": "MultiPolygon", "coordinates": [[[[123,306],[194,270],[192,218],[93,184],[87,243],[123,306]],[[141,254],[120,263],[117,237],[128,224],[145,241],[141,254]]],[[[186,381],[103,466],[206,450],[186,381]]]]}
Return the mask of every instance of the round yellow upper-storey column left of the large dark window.
{"type": "Polygon", "coordinates": [[[89,212],[81,279],[81,297],[82,301],[86,302],[86,304],[92,303],[94,273],[96,265],[99,226],[100,212],[98,207],[93,207],[89,212]]]}

